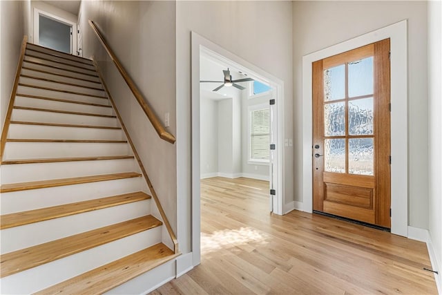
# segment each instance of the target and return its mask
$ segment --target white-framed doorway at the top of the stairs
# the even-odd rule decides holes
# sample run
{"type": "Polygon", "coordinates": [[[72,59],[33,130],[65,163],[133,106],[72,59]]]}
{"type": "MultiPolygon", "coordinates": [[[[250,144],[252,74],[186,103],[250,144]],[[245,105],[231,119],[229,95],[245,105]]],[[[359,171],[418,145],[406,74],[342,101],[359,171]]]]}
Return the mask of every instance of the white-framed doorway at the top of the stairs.
{"type": "Polygon", "coordinates": [[[35,8],[34,43],[77,55],[77,23],[35,8]]]}

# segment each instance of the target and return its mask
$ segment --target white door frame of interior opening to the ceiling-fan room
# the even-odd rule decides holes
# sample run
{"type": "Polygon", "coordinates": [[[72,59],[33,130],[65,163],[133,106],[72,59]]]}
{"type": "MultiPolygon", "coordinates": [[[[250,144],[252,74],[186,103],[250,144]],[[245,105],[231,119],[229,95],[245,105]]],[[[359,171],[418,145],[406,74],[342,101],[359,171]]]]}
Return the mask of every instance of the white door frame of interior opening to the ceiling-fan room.
{"type": "MultiPolygon", "coordinates": [[[[219,59],[226,59],[229,64],[233,63],[236,68],[250,73],[254,77],[258,77],[262,81],[268,82],[274,89],[273,93],[276,99],[276,116],[277,128],[276,134],[276,151],[278,153],[277,169],[276,169],[276,203],[273,207],[273,213],[282,215],[282,204],[285,201],[283,190],[283,173],[284,171],[284,82],[265,72],[248,61],[234,55],[228,50],[214,44],[213,42],[191,32],[191,153],[192,153],[192,173],[191,173],[191,249],[193,265],[199,265],[201,261],[201,209],[200,209],[200,51],[205,50],[219,59]],[[278,193],[280,192],[280,193],[278,193]]],[[[270,193],[270,192],[269,192],[270,193]]],[[[180,202],[178,202],[178,207],[180,202]]]]}

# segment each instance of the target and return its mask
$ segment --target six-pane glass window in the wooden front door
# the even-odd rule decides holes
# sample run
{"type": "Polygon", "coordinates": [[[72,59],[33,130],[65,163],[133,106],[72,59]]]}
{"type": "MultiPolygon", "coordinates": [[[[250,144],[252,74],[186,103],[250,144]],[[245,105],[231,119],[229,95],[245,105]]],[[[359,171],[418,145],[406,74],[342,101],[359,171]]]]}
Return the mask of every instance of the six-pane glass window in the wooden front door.
{"type": "Polygon", "coordinates": [[[325,171],[374,175],[373,60],[323,72],[325,171]]]}

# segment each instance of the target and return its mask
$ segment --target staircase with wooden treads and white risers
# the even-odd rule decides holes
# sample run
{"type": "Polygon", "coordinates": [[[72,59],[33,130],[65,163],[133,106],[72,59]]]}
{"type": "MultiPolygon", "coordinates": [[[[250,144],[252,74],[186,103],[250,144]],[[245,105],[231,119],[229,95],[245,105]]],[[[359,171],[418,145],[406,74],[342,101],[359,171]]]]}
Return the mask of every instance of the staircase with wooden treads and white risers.
{"type": "Polygon", "coordinates": [[[93,62],[26,44],[14,98],[0,166],[1,294],[102,294],[171,263],[93,62]]]}

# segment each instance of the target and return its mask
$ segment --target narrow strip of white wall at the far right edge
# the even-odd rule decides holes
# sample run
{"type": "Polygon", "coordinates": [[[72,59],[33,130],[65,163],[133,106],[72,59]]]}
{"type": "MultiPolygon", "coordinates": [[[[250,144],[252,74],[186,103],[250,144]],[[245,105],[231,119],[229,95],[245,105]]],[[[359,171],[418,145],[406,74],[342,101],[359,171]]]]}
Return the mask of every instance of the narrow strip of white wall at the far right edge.
{"type": "Polygon", "coordinates": [[[442,5],[428,2],[428,196],[429,231],[439,267],[439,293],[442,292],[442,5]]]}

